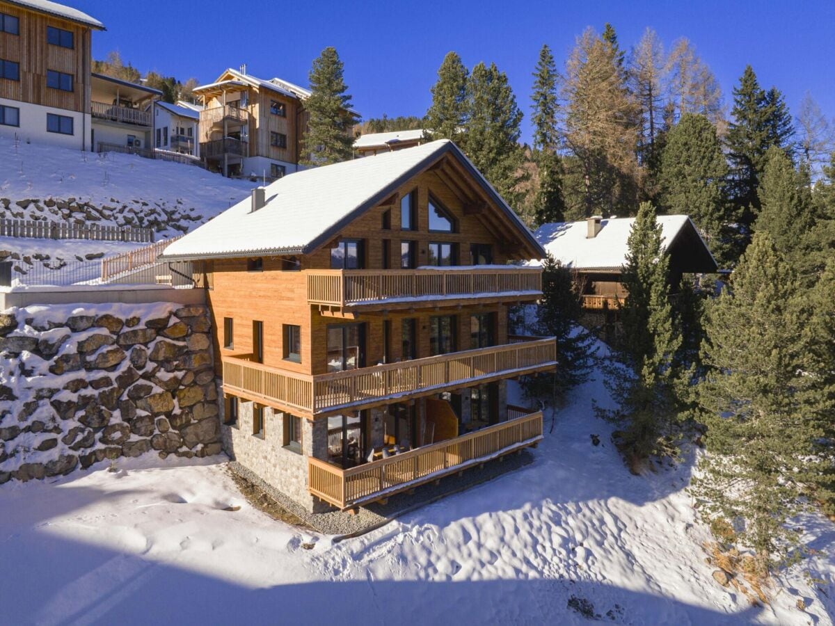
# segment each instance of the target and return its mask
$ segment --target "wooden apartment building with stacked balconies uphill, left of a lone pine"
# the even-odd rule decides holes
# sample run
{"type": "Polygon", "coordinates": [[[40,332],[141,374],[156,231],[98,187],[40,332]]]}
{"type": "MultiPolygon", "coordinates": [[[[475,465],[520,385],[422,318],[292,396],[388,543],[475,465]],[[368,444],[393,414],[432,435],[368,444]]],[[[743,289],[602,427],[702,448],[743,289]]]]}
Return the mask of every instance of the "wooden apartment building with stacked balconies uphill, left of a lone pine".
{"type": "Polygon", "coordinates": [[[266,179],[300,169],[310,91],[281,78],[256,78],[241,67],[192,93],[203,98],[200,154],[210,169],[266,179]]]}

